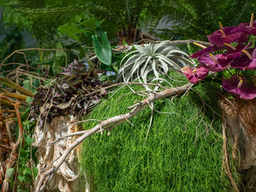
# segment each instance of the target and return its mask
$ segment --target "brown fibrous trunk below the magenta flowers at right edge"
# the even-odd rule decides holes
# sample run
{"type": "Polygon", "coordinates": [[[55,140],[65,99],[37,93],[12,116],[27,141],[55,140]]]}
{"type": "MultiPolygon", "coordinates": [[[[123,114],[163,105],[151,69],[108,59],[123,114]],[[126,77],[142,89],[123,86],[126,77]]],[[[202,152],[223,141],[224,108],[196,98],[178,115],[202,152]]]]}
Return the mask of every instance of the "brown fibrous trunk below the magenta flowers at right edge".
{"type": "Polygon", "coordinates": [[[233,147],[232,158],[246,191],[251,191],[256,186],[256,100],[235,98],[220,103],[233,147]]]}

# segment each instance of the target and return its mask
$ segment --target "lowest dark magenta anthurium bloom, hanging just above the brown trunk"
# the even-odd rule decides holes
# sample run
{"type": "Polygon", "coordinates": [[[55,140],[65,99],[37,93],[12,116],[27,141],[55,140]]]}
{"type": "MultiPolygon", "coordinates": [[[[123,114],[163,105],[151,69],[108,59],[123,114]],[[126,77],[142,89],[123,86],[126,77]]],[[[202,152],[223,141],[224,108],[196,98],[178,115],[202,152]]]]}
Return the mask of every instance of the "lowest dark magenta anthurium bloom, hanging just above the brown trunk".
{"type": "Polygon", "coordinates": [[[238,98],[256,98],[256,87],[251,85],[246,78],[239,80],[235,75],[229,79],[222,78],[222,86],[224,90],[238,96],[238,98]]]}

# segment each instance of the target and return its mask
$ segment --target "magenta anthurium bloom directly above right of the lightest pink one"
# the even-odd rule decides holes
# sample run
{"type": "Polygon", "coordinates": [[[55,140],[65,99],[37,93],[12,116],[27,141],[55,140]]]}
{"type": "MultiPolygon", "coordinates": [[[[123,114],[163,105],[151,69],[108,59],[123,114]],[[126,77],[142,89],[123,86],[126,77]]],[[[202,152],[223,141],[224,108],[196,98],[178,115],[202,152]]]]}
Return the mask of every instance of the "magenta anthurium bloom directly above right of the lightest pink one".
{"type": "Polygon", "coordinates": [[[200,62],[207,70],[218,72],[226,70],[231,59],[227,59],[224,54],[204,54],[201,57],[198,57],[198,62],[200,62]]]}

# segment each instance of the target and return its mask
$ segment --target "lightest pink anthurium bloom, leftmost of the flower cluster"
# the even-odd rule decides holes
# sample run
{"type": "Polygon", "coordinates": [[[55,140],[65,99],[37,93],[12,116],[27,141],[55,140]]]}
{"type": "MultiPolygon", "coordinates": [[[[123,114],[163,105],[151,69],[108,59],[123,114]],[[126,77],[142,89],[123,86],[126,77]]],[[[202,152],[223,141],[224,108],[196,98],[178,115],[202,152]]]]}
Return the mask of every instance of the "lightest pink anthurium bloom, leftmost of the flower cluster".
{"type": "Polygon", "coordinates": [[[203,66],[193,67],[185,66],[180,70],[182,74],[185,74],[186,78],[192,82],[193,84],[196,84],[197,82],[200,82],[202,79],[206,78],[206,76],[209,73],[209,70],[207,70],[203,66]]]}

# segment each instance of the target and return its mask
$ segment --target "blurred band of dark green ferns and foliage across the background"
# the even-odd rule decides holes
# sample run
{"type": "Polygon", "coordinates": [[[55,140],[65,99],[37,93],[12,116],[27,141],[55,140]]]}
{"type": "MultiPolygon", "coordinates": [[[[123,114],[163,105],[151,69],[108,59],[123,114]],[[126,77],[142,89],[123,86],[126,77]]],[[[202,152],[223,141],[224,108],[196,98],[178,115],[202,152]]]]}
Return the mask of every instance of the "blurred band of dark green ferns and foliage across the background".
{"type": "MultiPolygon", "coordinates": [[[[47,61],[50,66],[66,66],[74,58],[85,58],[93,45],[92,35],[100,38],[104,31],[112,46],[138,42],[144,32],[163,39],[206,41],[206,34],[218,30],[218,22],[223,26],[249,22],[255,1],[0,0],[0,6],[2,22],[8,29],[2,31],[6,38],[0,42],[1,58],[24,48],[22,33],[26,31],[39,48],[66,49],[62,53],[39,50],[38,58],[34,57],[30,64],[47,61]],[[69,30],[73,30],[75,38],[70,37],[69,30]],[[66,58],[61,64],[54,59],[60,56],[66,58]]],[[[54,67],[50,71],[58,72],[54,67]]]]}

